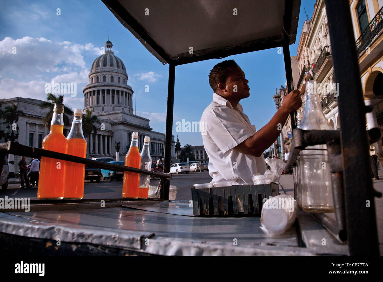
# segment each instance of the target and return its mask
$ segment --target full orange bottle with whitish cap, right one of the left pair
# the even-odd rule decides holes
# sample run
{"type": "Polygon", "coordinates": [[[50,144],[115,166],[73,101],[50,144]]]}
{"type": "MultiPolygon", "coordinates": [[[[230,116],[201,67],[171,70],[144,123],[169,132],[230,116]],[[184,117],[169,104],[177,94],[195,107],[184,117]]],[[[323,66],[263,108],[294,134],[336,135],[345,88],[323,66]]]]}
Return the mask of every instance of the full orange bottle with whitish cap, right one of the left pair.
{"type": "MultiPolygon", "coordinates": [[[[68,140],[68,155],[85,158],[87,155],[87,142],[82,134],[82,109],[74,109],[72,128],[68,140]]],[[[82,199],[84,196],[85,165],[82,163],[67,162],[65,174],[65,199],[82,199]]]]}

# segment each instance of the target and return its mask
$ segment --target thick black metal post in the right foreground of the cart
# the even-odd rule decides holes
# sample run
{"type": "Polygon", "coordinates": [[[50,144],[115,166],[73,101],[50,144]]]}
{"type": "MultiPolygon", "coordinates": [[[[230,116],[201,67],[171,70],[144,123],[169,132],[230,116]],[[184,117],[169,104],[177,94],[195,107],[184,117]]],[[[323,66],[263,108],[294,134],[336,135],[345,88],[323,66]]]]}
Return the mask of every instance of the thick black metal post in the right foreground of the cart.
{"type": "Polygon", "coordinates": [[[339,83],[347,236],[350,255],[379,255],[370,155],[354,31],[348,0],[326,1],[332,60],[339,83]]]}

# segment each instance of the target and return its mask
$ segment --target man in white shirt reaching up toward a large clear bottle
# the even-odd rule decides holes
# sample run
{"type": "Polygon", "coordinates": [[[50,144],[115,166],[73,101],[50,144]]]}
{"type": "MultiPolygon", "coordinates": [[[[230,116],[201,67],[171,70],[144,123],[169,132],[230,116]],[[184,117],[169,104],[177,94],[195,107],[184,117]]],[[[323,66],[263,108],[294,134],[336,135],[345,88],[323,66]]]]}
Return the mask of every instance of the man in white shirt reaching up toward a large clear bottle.
{"type": "Polygon", "coordinates": [[[213,102],[202,114],[201,134],[212,182],[248,183],[254,174],[264,174],[263,152],[278,138],[278,124],[285,124],[288,115],[302,104],[300,92],[291,91],[270,122],[256,131],[239,104],[250,96],[248,82],[234,60],[223,61],[210,71],[213,102]]]}

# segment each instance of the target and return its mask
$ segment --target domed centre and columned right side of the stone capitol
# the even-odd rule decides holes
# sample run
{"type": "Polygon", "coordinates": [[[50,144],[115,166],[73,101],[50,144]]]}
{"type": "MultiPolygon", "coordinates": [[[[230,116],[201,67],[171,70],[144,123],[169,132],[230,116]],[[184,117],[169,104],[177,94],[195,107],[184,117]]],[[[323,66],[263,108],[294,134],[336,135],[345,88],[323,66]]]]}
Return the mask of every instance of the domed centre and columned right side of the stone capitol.
{"type": "MultiPolygon", "coordinates": [[[[165,134],[152,131],[149,119],[133,114],[133,89],[128,85],[129,76],[123,61],[113,54],[113,44],[106,41],[104,54],[93,61],[89,84],[83,89],[84,112],[92,111],[100,121],[97,133],[88,137],[87,155],[94,157],[115,156],[115,142],[120,142],[120,160],[129,149],[133,131],[139,134],[139,150],[144,137],[151,138],[153,160],[164,155],[165,134]]],[[[172,158],[175,158],[174,136],[172,158]]]]}

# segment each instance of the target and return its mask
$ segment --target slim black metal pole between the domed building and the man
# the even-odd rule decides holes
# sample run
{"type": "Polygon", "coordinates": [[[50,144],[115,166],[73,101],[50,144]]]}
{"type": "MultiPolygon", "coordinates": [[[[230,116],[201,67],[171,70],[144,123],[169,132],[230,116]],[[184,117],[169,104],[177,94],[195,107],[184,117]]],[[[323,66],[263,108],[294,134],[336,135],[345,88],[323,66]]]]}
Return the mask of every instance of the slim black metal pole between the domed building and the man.
{"type": "MultiPolygon", "coordinates": [[[[166,129],[165,129],[165,155],[164,173],[170,173],[170,159],[172,157],[172,131],[173,131],[173,106],[174,106],[174,77],[175,64],[169,64],[168,99],[166,109],[166,129]]],[[[169,200],[170,179],[161,185],[161,198],[169,200]]]]}

